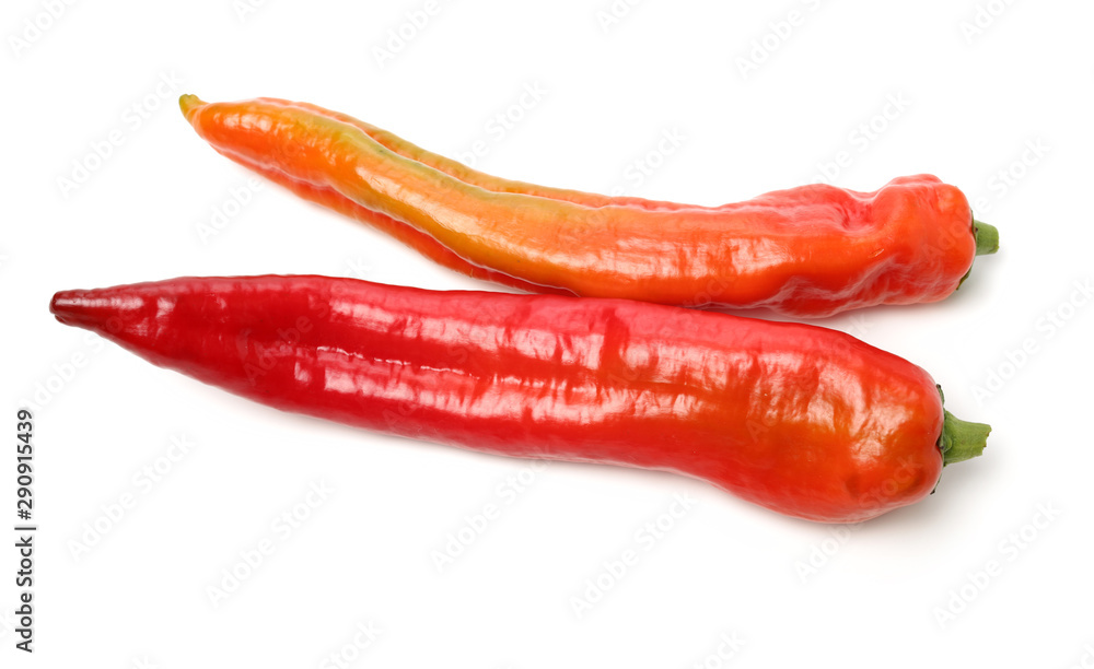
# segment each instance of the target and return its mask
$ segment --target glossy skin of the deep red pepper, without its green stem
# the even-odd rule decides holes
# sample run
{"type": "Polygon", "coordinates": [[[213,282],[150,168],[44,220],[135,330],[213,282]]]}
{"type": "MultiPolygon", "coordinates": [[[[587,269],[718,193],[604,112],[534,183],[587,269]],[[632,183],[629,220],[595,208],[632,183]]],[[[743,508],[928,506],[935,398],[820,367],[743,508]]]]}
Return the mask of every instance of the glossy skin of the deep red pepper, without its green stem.
{"type": "Polygon", "coordinates": [[[928,495],[951,418],[927,372],[848,334],[626,300],[268,275],[63,291],[50,310],[284,411],[679,472],[825,523],[928,495]]]}

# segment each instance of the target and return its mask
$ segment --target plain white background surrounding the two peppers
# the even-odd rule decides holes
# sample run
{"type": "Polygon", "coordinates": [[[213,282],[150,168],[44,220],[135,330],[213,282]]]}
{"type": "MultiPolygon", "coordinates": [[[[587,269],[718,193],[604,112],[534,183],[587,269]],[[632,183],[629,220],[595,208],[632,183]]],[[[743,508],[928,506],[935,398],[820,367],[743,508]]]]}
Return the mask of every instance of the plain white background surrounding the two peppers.
{"type": "Polygon", "coordinates": [[[0,662],[1094,662],[1094,301],[1076,287],[1089,291],[1094,274],[1094,7],[620,0],[608,24],[608,0],[435,0],[423,26],[403,28],[409,40],[392,43],[392,58],[377,57],[389,31],[408,13],[421,23],[426,9],[4,4],[0,424],[12,442],[16,409],[35,407],[40,529],[27,657],[11,630],[5,448],[0,662]],[[520,107],[537,86],[538,99],[520,107]],[[830,179],[858,190],[935,174],[1000,228],[1002,250],[979,258],[947,301],[823,325],[927,368],[955,414],[993,425],[988,451],[947,468],[922,503],[838,533],[670,474],[533,472],[282,414],[60,326],[47,312],[55,291],[185,274],[494,290],[277,187],[255,190],[184,122],[184,92],[313,102],[450,156],[482,141],[476,166],[501,176],[705,204],[813,180],[840,152],[830,179]],[[499,114],[514,119],[508,128],[499,114]],[[683,139],[649,155],[665,132],[683,139]],[[105,153],[112,137],[96,161],[94,145],[105,153]],[[644,175],[639,160],[657,167],[644,175]],[[73,161],[91,169],[74,174],[73,161]],[[81,176],[74,189],[59,180],[81,176]],[[216,211],[234,215],[202,235],[216,211]],[[178,453],[172,439],[191,445],[176,462],[165,459],[178,453]],[[165,474],[149,486],[146,467],[165,474]],[[533,473],[519,494],[499,494],[533,473]],[[319,482],[334,492],[288,536],[278,531],[276,518],[319,482]],[[105,520],[125,494],[132,507],[105,520]],[[647,551],[637,532],[674,495],[695,503],[647,551]],[[432,552],[488,504],[500,517],[439,570],[432,552]],[[108,526],[97,537],[96,521],[108,526]],[[214,607],[209,587],[264,539],[274,553],[214,607]],[[74,552],[85,542],[94,545],[74,552]],[[578,617],[572,598],[628,549],[637,566],[578,617]],[[993,560],[994,575],[976,575],[993,560]],[[940,612],[955,614],[940,622],[940,612]],[[379,636],[358,649],[354,630],[370,624],[379,636]],[[731,652],[723,639],[734,637],[731,652]]]}

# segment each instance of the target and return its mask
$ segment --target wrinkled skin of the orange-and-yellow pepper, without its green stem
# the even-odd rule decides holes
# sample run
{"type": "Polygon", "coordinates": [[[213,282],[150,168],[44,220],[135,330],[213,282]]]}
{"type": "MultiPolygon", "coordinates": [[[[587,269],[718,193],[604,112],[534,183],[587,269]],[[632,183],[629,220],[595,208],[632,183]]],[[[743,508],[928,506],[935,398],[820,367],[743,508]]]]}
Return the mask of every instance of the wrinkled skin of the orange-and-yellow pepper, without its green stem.
{"type": "Polygon", "coordinates": [[[217,151],[301,197],[531,292],[825,317],[942,300],[978,251],[965,196],[929,175],[698,207],[500,179],[314,105],[179,105],[217,151]]]}

